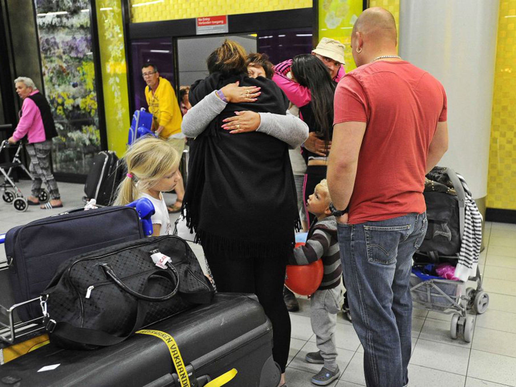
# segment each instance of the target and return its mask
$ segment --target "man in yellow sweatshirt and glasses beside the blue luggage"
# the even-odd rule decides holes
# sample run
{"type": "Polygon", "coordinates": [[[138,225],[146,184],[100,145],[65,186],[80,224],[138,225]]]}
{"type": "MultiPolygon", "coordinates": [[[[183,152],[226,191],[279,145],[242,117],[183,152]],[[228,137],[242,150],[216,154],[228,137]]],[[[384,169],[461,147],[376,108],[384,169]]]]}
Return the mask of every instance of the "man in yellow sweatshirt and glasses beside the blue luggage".
{"type": "MultiPolygon", "coordinates": [[[[158,68],[153,63],[145,63],[141,75],[147,83],[145,98],[153,115],[153,130],[159,137],[171,142],[181,156],[185,148],[185,136],[181,132],[182,115],[174,88],[167,79],[159,76],[158,68]]],[[[183,179],[175,186],[175,193],[178,198],[167,207],[169,213],[181,211],[185,194],[183,179]]]]}

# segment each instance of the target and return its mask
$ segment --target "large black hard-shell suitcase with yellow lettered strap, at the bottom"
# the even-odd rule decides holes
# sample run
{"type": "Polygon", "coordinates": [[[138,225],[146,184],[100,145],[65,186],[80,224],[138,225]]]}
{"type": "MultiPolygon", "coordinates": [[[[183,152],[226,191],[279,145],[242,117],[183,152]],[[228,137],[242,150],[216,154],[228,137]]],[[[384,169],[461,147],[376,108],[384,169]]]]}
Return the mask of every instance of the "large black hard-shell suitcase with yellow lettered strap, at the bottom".
{"type": "Polygon", "coordinates": [[[153,324],[144,332],[91,351],[45,345],[1,366],[0,386],[276,387],[279,383],[280,370],[271,355],[272,327],[254,296],[218,293],[211,304],[153,324]],[[223,380],[208,384],[218,377],[223,380]]]}

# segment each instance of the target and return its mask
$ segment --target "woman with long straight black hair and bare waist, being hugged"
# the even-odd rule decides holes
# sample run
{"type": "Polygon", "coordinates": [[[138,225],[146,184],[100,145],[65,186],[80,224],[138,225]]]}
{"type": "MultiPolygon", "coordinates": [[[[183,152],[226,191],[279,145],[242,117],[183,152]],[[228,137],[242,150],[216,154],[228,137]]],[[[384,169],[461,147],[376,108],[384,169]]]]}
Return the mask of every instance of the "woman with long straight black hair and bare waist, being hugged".
{"type": "MultiPolygon", "coordinates": [[[[326,151],[322,154],[303,149],[307,160],[307,172],[304,176],[303,196],[306,209],[308,197],[315,186],[326,178],[328,164],[328,144],[333,134],[333,94],[335,83],[324,63],[311,54],[301,54],[293,58],[292,80],[310,90],[309,103],[299,106],[300,116],[308,124],[309,131],[324,139],[326,151]]],[[[312,223],[314,216],[307,212],[307,219],[312,223]]]]}

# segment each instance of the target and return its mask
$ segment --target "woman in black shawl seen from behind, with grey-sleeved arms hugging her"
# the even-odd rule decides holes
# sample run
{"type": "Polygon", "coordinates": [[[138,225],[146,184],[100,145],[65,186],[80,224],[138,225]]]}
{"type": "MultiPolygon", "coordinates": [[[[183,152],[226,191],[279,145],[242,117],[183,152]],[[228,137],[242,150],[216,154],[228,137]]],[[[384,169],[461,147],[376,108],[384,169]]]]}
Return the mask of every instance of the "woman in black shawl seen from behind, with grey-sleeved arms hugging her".
{"type": "Polygon", "coordinates": [[[284,385],[291,325],[282,290],[299,227],[288,148],[304,141],[308,128],[285,115],[288,101],[272,80],[248,76],[238,43],[225,41],[207,65],[210,75],[191,86],[182,123],[195,137],[183,209],[217,290],[257,295],[272,323],[284,385]],[[259,114],[260,126],[232,120],[235,111],[259,114]]]}

